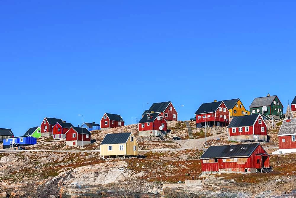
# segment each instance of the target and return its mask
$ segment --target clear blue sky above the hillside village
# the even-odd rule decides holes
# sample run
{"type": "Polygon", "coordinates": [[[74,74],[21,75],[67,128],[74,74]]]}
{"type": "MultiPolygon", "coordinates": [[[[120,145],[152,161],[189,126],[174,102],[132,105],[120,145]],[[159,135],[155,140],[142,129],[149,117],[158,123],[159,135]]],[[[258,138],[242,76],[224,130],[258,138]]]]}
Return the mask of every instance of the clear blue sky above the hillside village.
{"type": "Polygon", "coordinates": [[[294,2],[1,1],[0,127],[131,123],[154,102],[295,97],[294,2]],[[149,102],[149,105],[143,103],[149,102]]]}

